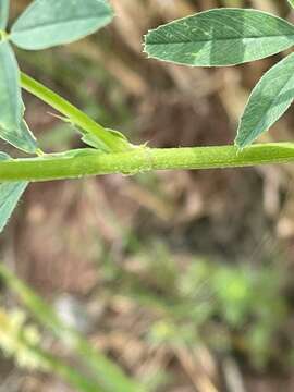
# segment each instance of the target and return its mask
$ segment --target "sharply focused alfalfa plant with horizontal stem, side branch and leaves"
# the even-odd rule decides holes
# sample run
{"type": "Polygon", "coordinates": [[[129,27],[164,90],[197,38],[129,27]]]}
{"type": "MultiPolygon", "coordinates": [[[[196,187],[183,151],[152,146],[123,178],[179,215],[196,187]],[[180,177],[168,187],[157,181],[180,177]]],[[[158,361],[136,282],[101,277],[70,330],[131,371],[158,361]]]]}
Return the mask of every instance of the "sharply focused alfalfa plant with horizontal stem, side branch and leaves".
{"type": "MultiPolygon", "coordinates": [[[[294,7],[294,1],[289,1],[294,7]]],[[[270,69],[254,88],[240,121],[235,145],[191,148],[135,146],[120,132],[96,123],[32,77],[20,72],[12,45],[41,50],[83,38],[107,25],[107,0],[35,0],[8,32],[9,0],[0,1],[0,137],[32,155],[0,155],[0,229],[28,182],[162,169],[208,169],[294,161],[294,144],[250,144],[287,110],[294,98],[294,54],[270,69]],[[45,154],[24,120],[21,88],[61,113],[88,148],[45,154]]],[[[223,8],[173,21],[145,37],[149,57],[189,66],[226,66],[290,49],[294,25],[252,9],[223,8]]]]}

